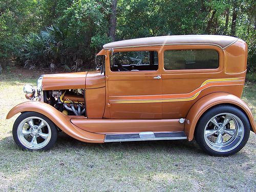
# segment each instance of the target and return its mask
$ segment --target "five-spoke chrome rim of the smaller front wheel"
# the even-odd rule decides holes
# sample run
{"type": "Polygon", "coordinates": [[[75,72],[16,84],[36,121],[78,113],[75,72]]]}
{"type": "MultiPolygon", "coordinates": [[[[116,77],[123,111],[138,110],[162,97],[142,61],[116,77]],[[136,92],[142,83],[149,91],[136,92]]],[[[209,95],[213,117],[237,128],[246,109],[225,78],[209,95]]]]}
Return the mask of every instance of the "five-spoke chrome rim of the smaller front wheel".
{"type": "Polygon", "coordinates": [[[27,117],[17,127],[18,140],[31,150],[45,147],[51,140],[51,136],[50,125],[40,117],[27,117]]]}

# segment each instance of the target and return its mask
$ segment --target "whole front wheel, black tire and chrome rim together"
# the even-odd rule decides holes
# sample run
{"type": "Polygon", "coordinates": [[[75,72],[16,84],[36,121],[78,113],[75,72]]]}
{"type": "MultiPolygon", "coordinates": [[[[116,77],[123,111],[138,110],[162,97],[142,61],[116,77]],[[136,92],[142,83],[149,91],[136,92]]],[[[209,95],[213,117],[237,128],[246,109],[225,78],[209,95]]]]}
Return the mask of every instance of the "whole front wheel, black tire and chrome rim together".
{"type": "Polygon", "coordinates": [[[49,150],[56,142],[57,135],[58,132],[55,124],[46,116],[36,112],[24,112],[19,115],[12,129],[12,136],[16,144],[22,148],[22,150],[28,151],[49,150]],[[33,128],[27,123],[26,119],[28,119],[28,121],[32,120],[33,128]],[[40,122],[46,125],[39,129],[38,125],[40,122]]]}

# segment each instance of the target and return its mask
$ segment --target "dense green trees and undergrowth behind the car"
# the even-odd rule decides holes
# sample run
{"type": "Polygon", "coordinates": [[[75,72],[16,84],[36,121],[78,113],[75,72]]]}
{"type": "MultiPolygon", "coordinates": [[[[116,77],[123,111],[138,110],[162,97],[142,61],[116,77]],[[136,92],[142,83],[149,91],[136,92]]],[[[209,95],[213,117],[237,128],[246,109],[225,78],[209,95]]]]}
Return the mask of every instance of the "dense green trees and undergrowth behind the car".
{"type": "Polygon", "coordinates": [[[237,36],[256,69],[253,0],[0,0],[0,62],[79,71],[106,42],[176,34],[237,36]]]}

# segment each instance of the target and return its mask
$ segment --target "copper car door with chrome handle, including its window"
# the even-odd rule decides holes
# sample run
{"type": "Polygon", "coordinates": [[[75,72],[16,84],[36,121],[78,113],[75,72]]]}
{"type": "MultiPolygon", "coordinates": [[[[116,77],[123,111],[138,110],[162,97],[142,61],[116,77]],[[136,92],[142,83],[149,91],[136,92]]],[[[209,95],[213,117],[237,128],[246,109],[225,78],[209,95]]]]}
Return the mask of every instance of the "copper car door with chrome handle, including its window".
{"type": "Polygon", "coordinates": [[[161,68],[157,49],[121,49],[109,57],[104,117],[161,119],[161,68]]]}

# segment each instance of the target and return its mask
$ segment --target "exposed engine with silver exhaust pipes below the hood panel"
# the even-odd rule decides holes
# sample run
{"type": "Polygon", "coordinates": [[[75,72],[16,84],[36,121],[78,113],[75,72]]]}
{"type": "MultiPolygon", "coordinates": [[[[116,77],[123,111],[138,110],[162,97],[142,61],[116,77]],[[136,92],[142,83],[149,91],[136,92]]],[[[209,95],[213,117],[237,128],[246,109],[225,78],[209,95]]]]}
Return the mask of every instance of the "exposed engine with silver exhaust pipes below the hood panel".
{"type": "Polygon", "coordinates": [[[44,92],[44,101],[65,115],[86,116],[83,89],[53,90],[44,92]]]}

